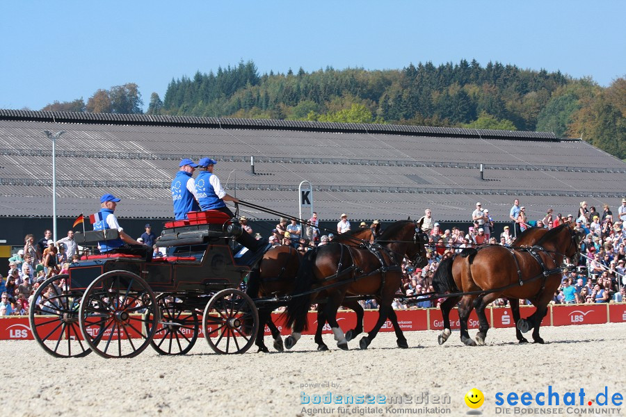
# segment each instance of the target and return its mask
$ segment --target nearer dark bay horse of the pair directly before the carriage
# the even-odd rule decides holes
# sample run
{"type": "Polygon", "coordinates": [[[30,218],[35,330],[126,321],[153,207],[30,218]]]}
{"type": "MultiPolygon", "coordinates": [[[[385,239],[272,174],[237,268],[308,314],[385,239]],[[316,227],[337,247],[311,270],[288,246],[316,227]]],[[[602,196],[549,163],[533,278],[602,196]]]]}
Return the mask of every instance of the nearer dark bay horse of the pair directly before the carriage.
{"type": "MultiPolygon", "coordinates": [[[[287,325],[292,326],[291,336],[285,340],[285,346],[290,349],[300,338],[301,332],[307,327],[311,301],[316,300],[321,291],[327,297],[323,317],[341,349],[347,350],[348,341],[337,324],[337,309],[346,295],[376,295],[379,300],[378,321],[374,329],[361,338],[359,345],[362,349],[366,349],[376,337],[387,318],[397,322],[392,301],[401,286],[400,263],[403,256],[414,260],[418,268],[427,263],[424,247],[426,239],[421,233],[421,226],[421,223],[411,220],[395,222],[376,240],[380,245],[378,250],[331,243],[307,252],[298,269],[294,296],[285,311],[287,325]]],[[[399,327],[395,330],[398,345],[408,347],[402,330],[399,327]]]]}

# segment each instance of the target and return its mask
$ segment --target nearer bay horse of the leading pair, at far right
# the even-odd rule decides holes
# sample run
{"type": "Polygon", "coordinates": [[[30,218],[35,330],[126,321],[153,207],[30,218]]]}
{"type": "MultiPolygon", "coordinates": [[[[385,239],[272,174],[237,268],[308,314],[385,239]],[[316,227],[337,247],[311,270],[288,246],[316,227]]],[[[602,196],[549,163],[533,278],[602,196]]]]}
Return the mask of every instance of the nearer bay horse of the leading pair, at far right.
{"type": "MultiPolygon", "coordinates": [[[[476,292],[463,295],[459,303],[461,341],[466,345],[485,344],[489,329],[485,307],[499,297],[515,300],[515,305],[512,303],[511,309],[517,330],[525,333],[533,329],[533,341],[544,343],[539,336],[539,327],[547,312],[547,304],[561,284],[560,265],[565,257],[577,255],[582,236],[573,229],[573,224],[561,224],[546,232],[530,230],[529,235],[524,236],[525,240],[520,240],[522,244],[524,241],[529,244],[528,242],[534,240],[534,243],[530,243],[532,245],[530,248],[510,250],[499,245],[490,245],[479,250],[470,248],[463,251],[465,256],[462,252],[462,256],[457,256],[454,261],[440,265],[439,269],[442,272],[438,270],[435,273],[433,286],[438,293],[446,291],[456,293],[460,292],[459,288],[464,293],[476,292]],[[517,300],[520,298],[530,300],[536,307],[535,313],[527,319],[520,319],[517,308],[517,300]],[[476,341],[472,340],[467,332],[467,318],[472,308],[476,308],[480,322],[476,341]]],[[[515,247],[518,246],[519,243],[516,241],[515,247]]],[[[447,300],[442,304],[442,312],[445,309],[449,313],[454,304],[454,300],[447,300]]],[[[450,335],[449,320],[447,323],[444,320],[444,327],[440,335],[440,344],[450,335]]],[[[518,340],[523,343],[525,339],[519,332],[517,334],[518,340]]]]}

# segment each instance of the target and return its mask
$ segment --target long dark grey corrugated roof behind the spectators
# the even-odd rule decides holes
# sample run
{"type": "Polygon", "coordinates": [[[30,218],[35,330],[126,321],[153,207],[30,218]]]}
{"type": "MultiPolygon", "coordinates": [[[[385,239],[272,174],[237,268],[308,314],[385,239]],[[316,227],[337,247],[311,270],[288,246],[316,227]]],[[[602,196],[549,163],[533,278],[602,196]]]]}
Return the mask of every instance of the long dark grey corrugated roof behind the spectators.
{"type": "Polygon", "coordinates": [[[0,110],[0,216],[51,215],[44,130],[65,131],[56,142],[63,217],[97,211],[96,197],[110,192],[123,198],[120,217],[170,218],[183,157],[211,156],[228,193],[291,215],[298,184],[310,181],[323,220],[415,218],[424,208],[470,220],[476,201],[506,220],[515,197],[531,218],[549,207],[566,215],[582,200],[616,206],[626,180],[617,158],[545,132],[0,110]]]}

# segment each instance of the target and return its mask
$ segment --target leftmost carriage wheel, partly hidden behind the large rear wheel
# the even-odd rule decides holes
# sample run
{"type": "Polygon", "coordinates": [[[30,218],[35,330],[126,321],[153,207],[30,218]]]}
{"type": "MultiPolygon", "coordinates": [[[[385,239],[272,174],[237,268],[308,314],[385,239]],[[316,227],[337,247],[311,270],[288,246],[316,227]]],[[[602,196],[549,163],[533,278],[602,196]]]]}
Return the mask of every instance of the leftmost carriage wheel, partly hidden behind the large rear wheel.
{"type": "Polygon", "coordinates": [[[29,311],[33,337],[46,352],[58,358],[83,357],[91,353],[89,345],[82,340],[78,320],[83,292],[63,291],[61,287],[53,285],[58,279],[68,278],[69,275],[65,274],[55,275],[43,281],[33,295],[33,305],[29,311]],[[42,308],[35,305],[40,299],[42,308]],[[35,320],[35,315],[42,317],[35,320]]]}

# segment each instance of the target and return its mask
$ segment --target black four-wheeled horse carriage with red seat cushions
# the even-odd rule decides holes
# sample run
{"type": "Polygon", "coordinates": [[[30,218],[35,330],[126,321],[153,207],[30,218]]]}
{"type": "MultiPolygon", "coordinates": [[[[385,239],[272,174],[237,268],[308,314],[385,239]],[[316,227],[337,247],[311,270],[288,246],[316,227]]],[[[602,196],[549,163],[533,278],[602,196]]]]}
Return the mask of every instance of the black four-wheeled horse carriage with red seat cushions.
{"type": "MultiPolygon", "coordinates": [[[[40,345],[56,357],[134,357],[147,345],[185,354],[202,332],[217,353],[246,352],[259,320],[238,286],[258,255],[233,242],[242,231],[225,213],[189,214],[166,223],[167,256],[87,255],[43,282],[30,313],[40,345]]],[[[117,237],[115,229],[76,234],[81,245],[117,237]]]]}

